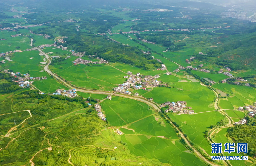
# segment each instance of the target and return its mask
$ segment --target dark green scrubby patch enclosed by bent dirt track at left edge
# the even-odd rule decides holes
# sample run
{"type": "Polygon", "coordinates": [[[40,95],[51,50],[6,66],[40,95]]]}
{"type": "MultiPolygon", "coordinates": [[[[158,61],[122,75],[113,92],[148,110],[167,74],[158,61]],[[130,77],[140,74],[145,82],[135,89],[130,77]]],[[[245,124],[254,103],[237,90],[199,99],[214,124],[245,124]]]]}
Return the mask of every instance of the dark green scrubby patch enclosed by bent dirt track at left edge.
{"type": "MultiPolygon", "coordinates": [[[[0,112],[0,114],[2,114],[0,112]]],[[[12,127],[19,125],[23,120],[30,117],[28,111],[16,112],[13,114],[6,114],[0,116],[0,135],[5,135],[12,127]]]]}

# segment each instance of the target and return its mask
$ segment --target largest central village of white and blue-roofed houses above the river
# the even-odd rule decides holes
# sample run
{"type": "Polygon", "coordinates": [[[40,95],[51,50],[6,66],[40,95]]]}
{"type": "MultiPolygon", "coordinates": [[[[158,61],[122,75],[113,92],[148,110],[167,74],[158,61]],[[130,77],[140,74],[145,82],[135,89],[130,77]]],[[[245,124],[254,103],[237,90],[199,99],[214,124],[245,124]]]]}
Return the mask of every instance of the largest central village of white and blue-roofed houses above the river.
{"type": "MultiPolygon", "coordinates": [[[[114,91],[119,93],[125,93],[125,94],[131,94],[131,91],[129,91],[129,88],[133,88],[135,90],[143,89],[146,90],[146,88],[149,87],[158,87],[159,83],[161,81],[156,80],[159,78],[159,75],[156,76],[144,76],[140,75],[140,73],[137,73],[136,75],[132,75],[130,71],[127,72],[130,76],[124,76],[124,78],[127,78],[127,81],[123,84],[119,84],[118,87],[113,88],[114,91]]],[[[139,93],[137,94],[139,95],[139,93]]]]}

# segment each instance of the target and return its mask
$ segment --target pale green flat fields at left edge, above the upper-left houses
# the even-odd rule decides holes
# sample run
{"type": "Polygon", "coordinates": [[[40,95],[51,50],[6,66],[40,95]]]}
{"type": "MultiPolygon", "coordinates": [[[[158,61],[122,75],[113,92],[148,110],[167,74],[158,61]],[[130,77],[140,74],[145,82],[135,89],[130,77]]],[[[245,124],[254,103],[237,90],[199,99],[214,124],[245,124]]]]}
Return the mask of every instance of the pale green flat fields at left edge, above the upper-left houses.
{"type": "Polygon", "coordinates": [[[3,31],[0,32],[1,38],[7,40],[0,41],[0,52],[9,52],[14,50],[26,50],[27,48],[31,48],[30,39],[26,36],[16,36],[11,37],[11,35],[16,35],[16,33],[23,33],[27,30],[20,32],[8,32],[3,31]]]}

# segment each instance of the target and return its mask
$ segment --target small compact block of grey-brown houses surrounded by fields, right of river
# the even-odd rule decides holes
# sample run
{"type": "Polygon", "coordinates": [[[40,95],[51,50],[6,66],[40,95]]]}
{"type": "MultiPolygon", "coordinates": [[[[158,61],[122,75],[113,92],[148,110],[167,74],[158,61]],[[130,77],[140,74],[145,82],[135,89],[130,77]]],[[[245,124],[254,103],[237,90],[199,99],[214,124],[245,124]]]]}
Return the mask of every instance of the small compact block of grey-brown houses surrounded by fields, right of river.
{"type": "Polygon", "coordinates": [[[185,101],[177,101],[177,102],[170,102],[170,101],[167,101],[163,104],[160,105],[160,107],[166,107],[168,106],[169,108],[164,110],[164,112],[173,112],[173,113],[176,113],[176,112],[183,112],[184,114],[194,114],[194,110],[191,110],[192,108],[191,107],[187,107],[187,102],[185,101]]]}

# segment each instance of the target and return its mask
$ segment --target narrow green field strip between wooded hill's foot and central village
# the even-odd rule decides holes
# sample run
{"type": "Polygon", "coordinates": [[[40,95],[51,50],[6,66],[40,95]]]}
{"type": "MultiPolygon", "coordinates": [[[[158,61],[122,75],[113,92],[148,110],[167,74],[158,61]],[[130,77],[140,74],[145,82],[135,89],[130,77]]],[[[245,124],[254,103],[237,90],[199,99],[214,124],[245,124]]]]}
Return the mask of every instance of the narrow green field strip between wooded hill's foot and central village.
{"type": "Polygon", "coordinates": [[[138,67],[135,66],[129,66],[126,64],[122,64],[122,63],[110,63],[111,66],[127,73],[128,71],[132,72],[134,75],[136,73],[140,73],[141,75],[159,75],[159,74],[163,74],[166,73],[166,70],[143,70],[140,69],[138,67]]]}

